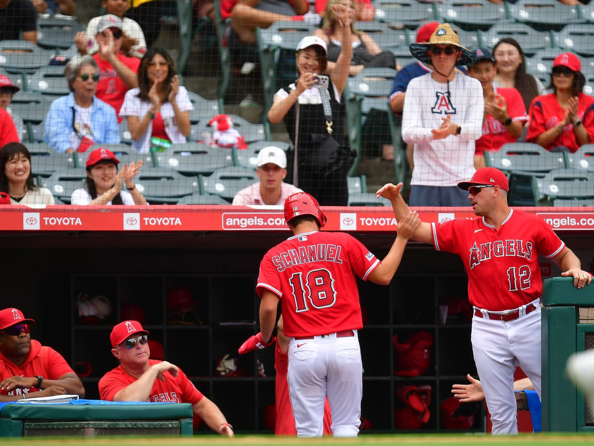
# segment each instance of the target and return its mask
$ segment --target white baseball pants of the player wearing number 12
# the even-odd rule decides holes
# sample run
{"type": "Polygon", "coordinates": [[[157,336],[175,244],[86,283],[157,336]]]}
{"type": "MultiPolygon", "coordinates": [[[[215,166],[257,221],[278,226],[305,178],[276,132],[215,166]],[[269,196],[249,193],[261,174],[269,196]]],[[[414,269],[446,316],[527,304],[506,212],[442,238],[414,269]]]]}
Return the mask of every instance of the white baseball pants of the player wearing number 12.
{"type": "MultiPolygon", "coordinates": [[[[485,310],[478,310],[485,315],[485,310]]],[[[516,366],[524,370],[541,397],[541,308],[538,299],[519,310],[520,317],[508,322],[476,315],[472,318],[472,351],[486,406],[491,413],[493,435],[518,432],[513,389],[516,366]],[[536,310],[526,314],[526,307],[530,305],[535,305],[536,310]]]]}

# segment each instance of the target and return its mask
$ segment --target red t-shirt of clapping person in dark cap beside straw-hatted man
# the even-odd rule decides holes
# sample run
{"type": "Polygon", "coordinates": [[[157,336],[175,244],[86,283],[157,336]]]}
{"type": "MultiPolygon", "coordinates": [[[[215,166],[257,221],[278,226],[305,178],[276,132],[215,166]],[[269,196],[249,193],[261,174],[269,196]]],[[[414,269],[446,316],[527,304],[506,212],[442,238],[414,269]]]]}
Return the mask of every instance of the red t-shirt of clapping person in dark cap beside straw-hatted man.
{"type": "MultiPolygon", "coordinates": [[[[514,88],[493,87],[495,94],[503,96],[507,104],[507,114],[513,121],[526,123],[528,115],[520,92],[514,88]]],[[[482,155],[485,150],[496,152],[507,143],[515,143],[516,139],[510,135],[505,125],[491,115],[487,115],[482,127],[482,136],[476,140],[475,154],[482,155]]]]}

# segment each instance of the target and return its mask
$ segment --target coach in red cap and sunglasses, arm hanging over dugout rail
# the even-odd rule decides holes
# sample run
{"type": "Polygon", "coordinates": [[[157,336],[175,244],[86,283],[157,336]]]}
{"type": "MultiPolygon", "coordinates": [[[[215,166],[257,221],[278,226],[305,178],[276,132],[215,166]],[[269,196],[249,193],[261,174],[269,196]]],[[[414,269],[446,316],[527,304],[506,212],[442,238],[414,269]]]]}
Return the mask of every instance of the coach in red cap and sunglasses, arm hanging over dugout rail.
{"type": "Polygon", "coordinates": [[[120,365],[99,381],[99,394],[107,401],[149,401],[190,403],[213,431],[233,436],[233,428],[212,401],[201,394],[177,366],[149,359],[149,332],[138,321],[124,321],[113,327],[109,339],[120,365]]]}

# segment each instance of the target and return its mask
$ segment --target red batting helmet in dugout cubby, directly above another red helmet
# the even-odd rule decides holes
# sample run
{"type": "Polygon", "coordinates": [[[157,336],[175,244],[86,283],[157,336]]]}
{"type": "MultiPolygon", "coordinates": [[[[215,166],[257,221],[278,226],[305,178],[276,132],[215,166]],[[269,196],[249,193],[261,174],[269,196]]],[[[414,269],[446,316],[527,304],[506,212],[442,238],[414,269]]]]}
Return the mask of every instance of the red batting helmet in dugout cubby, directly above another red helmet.
{"type": "Polygon", "coordinates": [[[427,371],[431,362],[431,344],[433,337],[429,332],[419,331],[406,343],[398,343],[398,335],[394,341],[394,375],[419,376],[427,371]]]}

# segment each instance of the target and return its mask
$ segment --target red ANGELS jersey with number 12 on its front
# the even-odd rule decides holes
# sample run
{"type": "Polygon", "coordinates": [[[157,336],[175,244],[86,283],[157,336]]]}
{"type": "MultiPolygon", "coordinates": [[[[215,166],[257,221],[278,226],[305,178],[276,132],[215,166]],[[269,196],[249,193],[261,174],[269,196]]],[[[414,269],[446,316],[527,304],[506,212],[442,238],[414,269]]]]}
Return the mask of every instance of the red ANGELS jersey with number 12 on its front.
{"type": "Polygon", "coordinates": [[[484,218],[456,218],[431,224],[435,250],[462,258],[468,299],[489,311],[513,310],[542,292],[538,253],[547,259],[565,243],[539,216],[510,209],[499,230],[484,218]]]}

